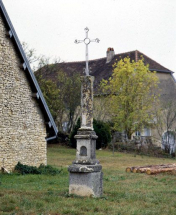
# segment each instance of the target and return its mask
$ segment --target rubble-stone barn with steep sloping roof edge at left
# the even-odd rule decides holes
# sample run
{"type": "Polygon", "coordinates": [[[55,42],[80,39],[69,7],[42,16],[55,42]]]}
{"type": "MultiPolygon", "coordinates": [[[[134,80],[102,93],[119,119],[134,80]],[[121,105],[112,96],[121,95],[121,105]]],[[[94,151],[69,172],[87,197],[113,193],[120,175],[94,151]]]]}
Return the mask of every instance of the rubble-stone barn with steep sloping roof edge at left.
{"type": "Polygon", "coordinates": [[[46,141],[58,133],[0,0],[0,169],[47,164],[46,141]]]}

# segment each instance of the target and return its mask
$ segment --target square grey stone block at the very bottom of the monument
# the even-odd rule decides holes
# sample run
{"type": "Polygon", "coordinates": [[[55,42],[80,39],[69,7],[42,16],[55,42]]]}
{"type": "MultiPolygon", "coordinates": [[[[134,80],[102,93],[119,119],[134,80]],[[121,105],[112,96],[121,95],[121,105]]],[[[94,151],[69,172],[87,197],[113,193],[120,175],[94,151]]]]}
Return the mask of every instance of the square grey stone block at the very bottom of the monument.
{"type": "Polygon", "coordinates": [[[102,196],[103,173],[70,172],[69,194],[79,196],[102,196]]]}

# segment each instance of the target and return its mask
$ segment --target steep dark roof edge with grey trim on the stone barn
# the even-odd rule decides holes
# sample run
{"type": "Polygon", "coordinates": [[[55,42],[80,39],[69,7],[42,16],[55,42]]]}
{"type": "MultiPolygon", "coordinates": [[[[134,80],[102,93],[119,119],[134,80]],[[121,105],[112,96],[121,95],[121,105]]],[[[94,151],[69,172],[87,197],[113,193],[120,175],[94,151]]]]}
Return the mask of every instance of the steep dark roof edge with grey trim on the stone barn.
{"type": "MultiPolygon", "coordinates": [[[[37,80],[30,68],[30,65],[29,65],[29,62],[26,58],[26,55],[23,51],[23,48],[21,46],[21,43],[18,39],[18,36],[15,32],[15,29],[12,25],[12,22],[8,16],[8,13],[4,7],[4,4],[2,2],[2,0],[0,0],[0,13],[2,14],[3,18],[4,18],[4,22],[5,22],[5,26],[7,28],[7,31],[9,33],[9,37],[11,38],[11,40],[13,41],[15,47],[16,47],[16,50],[23,62],[22,66],[23,66],[23,69],[24,69],[24,72],[28,78],[28,81],[30,83],[30,86],[31,86],[31,89],[34,93],[36,93],[36,96],[37,96],[37,99],[38,99],[38,102],[39,102],[39,105],[40,105],[40,108],[41,108],[41,111],[43,113],[43,116],[44,116],[44,119],[45,121],[47,122],[46,123],[46,129],[47,129],[47,133],[48,133],[48,137],[47,137],[47,140],[50,140],[50,139],[54,139],[56,138],[57,136],[57,133],[58,133],[58,129],[56,127],[56,124],[53,120],[53,117],[49,111],[49,108],[46,104],[46,101],[43,97],[43,94],[40,90],[40,87],[37,83],[37,80]]],[[[34,119],[35,120],[35,119],[34,119]]]]}

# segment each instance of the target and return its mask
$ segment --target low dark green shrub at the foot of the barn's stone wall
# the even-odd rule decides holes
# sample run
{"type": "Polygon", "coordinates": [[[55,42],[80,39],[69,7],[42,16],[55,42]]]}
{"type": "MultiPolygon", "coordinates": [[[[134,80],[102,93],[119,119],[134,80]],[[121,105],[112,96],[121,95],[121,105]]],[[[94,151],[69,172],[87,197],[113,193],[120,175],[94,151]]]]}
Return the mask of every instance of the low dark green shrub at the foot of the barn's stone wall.
{"type": "Polygon", "coordinates": [[[58,170],[50,165],[45,166],[41,164],[39,167],[36,167],[23,165],[20,162],[18,162],[17,165],[15,166],[15,171],[22,175],[25,174],[57,175],[61,172],[61,170],[58,170]]]}

